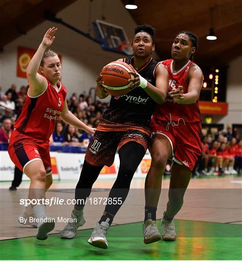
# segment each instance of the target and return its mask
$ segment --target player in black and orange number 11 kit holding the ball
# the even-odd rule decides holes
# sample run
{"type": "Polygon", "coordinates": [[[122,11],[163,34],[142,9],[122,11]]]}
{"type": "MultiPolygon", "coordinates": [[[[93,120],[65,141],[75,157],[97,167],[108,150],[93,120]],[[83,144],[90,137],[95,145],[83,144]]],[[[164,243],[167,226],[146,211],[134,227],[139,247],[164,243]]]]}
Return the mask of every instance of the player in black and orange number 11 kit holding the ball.
{"type": "MultiPolygon", "coordinates": [[[[113,218],[124,203],[132,177],[145,155],[150,139],[150,119],[156,103],[162,103],[168,90],[166,68],[151,58],[155,50],[155,29],[150,25],[135,28],[132,49],[134,56],[120,59],[132,65],[137,73],[130,81],[130,91],[126,95],[111,98],[109,109],[103,114],[97,131],[90,142],[79,182],[75,191],[76,201],[85,200],[104,165],[113,164],[118,149],[120,166],[116,181],[109,193],[109,204],[103,216],[94,227],[89,244],[108,248],[106,234],[113,218]],[[156,86],[156,87],[155,87],[156,86]],[[115,199],[119,202],[115,202],[115,199]]],[[[100,99],[108,96],[101,86],[101,75],[97,78],[96,94],[100,99]]],[[[62,238],[73,238],[77,229],[85,223],[84,205],[76,204],[69,222],[61,233],[62,238]]],[[[148,224],[154,225],[154,224],[148,224]]],[[[155,224],[156,225],[156,224],[155,224]]]]}

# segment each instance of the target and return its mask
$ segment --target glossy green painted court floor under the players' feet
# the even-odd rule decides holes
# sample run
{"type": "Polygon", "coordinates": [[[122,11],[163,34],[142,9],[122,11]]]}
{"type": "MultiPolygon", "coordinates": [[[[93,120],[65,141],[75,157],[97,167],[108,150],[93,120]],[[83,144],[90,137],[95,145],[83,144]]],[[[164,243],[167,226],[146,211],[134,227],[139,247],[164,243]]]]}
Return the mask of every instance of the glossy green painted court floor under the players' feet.
{"type": "MultiPolygon", "coordinates": [[[[45,241],[34,237],[0,242],[1,260],[241,260],[242,226],[175,220],[177,240],[143,243],[142,222],[115,225],[108,233],[108,249],[87,243],[92,230],[75,239],[52,234],[45,241]]],[[[159,227],[160,224],[159,224],[159,227]]]]}

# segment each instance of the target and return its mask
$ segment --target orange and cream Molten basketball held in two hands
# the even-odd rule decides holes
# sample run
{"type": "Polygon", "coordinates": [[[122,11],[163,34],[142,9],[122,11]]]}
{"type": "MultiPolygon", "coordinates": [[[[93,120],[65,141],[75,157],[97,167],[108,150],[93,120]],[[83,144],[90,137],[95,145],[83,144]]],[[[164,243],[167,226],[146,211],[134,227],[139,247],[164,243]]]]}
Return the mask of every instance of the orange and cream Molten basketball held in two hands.
{"type": "Polygon", "coordinates": [[[132,67],[121,61],[113,61],[102,68],[101,81],[105,91],[113,96],[124,95],[129,92],[129,82],[133,76],[129,72],[134,72],[132,67]]]}

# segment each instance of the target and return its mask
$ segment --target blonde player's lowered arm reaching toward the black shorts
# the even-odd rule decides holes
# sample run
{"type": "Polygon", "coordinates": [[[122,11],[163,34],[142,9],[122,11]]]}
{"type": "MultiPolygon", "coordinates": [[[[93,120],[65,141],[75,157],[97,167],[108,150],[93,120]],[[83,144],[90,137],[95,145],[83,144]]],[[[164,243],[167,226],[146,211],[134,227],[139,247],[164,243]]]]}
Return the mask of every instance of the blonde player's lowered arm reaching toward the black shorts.
{"type": "Polygon", "coordinates": [[[64,107],[61,114],[62,120],[64,120],[67,124],[70,124],[78,129],[86,131],[87,133],[94,133],[96,131],[95,128],[88,127],[85,123],[83,123],[79,118],[73,115],[69,110],[65,98],[64,107]]]}

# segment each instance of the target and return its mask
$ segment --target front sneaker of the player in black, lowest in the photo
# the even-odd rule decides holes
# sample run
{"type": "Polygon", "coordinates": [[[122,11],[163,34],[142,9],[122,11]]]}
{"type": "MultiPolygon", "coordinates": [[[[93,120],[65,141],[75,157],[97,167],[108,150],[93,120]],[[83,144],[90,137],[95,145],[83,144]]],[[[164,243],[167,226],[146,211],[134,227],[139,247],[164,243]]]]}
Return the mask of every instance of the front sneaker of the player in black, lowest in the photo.
{"type": "Polygon", "coordinates": [[[88,239],[88,243],[92,246],[107,249],[108,241],[106,239],[106,235],[108,233],[108,229],[109,223],[102,221],[101,224],[99,224],[97,222],[91,237],[88,239]]]}

